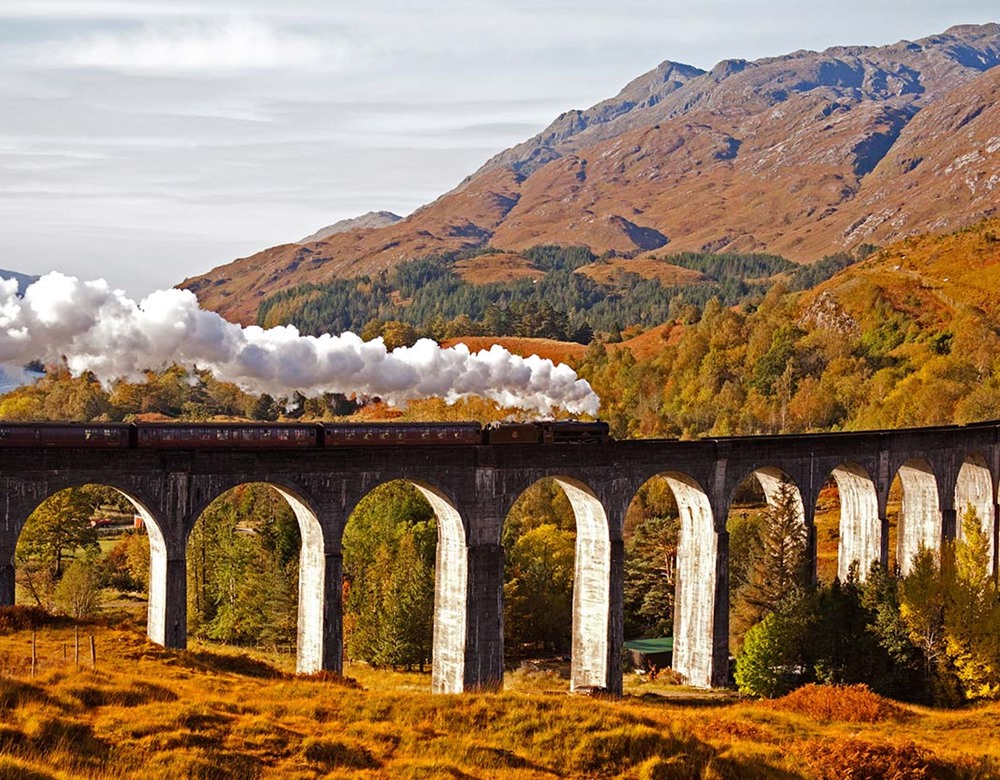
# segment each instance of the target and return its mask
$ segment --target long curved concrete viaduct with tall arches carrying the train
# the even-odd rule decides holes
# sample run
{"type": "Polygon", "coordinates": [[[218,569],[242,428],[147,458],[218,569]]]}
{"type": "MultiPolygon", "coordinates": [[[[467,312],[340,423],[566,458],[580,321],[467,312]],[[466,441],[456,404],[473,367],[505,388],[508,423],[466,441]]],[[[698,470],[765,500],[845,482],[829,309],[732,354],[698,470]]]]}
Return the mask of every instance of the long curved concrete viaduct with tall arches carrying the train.
{"type": "MultiPolygon", "coordinates": [[[[298,668],[342,668],[341,539],[373,488],[407,480],[438,518],[433,689],[489,689],[503,680],[504,518],[544,477],[558,481],[576,515],[571,684],[621,691],[622,526],[639,488],[664,477],[681,525],[674,668],[696,686],[728,674],[726,520],[739,485],[755,476],[769,500],[782,479],[799,491],[815,562],[813,516],[832,476],[841,495],[839,571],[888,561],[886,503],[903,487],[897,558],[939,549],[971,504],[997,548],[1000,422],[800,436],[637,440],[601,444],[357,446],[303,450],[94,450],[0,447],[0,604],[14,601],[14,548],[25,521],[67,487],[111,485],[149,529],[148,633],[168,647],[187,641],[186,544],[202,511],[225,491],[264,482],[288,500],[302,536],[298,668]]],[[[996,571],[996,554],[991,567],[996,571]]]]}

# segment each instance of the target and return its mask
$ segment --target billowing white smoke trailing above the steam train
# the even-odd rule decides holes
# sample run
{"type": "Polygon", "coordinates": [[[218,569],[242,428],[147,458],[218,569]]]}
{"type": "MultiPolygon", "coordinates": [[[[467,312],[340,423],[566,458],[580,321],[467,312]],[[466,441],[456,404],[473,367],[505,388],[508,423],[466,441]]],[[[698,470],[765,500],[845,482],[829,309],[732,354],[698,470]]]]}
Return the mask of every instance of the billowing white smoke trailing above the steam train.
{"type": "Polygon", "coordinates": [[[200,309],[187,290],[160,290],[136,304],[103,279],[50,273],[18,298],[17,282],[0,280],[0,364],[63,358],[74,374],[91,371],[105,382],[141,380],[144,369],[177,363],[275,396],[334,392],[399,404],[475,395],[541,414],[557,406],[596,414],[600,405],[569,366],[499,346],[470,353],[423,339],[389,352],[381,339],[353,333],[314,337],[291,326],[235,325],[200,309]]]}

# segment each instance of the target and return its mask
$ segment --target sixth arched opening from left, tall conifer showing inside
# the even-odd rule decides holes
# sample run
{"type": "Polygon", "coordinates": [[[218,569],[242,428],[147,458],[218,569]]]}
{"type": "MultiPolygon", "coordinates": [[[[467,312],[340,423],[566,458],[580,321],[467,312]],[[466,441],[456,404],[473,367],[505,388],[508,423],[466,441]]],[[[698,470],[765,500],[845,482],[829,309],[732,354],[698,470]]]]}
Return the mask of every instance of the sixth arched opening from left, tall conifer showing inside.
{"type": "Polygon", "coordinates": [[[726,531],[729,652],[739,656],[746,632],[812,577],[814,564],[798,486],[779,468],[755,470],[736,489],[726,531]]]}

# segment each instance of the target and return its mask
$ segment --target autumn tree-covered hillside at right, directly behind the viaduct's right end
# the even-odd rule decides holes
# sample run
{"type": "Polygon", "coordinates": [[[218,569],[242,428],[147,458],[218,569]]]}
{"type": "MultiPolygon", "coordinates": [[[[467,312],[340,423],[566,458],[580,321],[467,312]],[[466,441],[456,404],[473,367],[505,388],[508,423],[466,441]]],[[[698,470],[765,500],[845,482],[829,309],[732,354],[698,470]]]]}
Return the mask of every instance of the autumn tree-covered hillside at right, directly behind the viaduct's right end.
{"type": "Polygon", "coordinates": [[[1000,418],[1000,218],[905,239],[801,293],[709,303],[646,359],[579,366],[618,436],[1000,418]]]}

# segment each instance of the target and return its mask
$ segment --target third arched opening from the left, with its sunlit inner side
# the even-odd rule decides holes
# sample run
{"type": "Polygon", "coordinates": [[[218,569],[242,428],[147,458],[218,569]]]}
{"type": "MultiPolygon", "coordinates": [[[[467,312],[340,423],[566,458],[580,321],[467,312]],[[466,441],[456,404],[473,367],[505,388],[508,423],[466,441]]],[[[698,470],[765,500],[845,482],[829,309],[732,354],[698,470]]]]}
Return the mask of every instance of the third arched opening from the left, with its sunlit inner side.
{"type": "Polygon", "coordinates": [[[435,693],[465,685],[468,557],[454,504],[425,483],[395,480],[358,502],[344,528],[348,658],[423,672],[435,693]]]}

